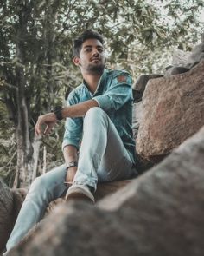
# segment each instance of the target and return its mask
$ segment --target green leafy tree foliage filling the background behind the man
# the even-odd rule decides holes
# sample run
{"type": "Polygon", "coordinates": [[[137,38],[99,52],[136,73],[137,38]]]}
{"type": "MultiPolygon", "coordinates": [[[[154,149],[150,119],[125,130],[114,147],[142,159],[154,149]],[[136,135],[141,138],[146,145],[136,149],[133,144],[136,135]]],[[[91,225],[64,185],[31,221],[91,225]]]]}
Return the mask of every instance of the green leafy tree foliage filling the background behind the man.
{"type": "MultiPolygon", "coordinates": [[[[26,98],[32,141],[37,116],[64,102],[70,89],[80,83],[80,71],[72,62],[73,37],[86,29],[99,30],[106,38],[109,67],[128,69],[134,78],[158,70],[162,73],[165,63],[159,60],[163,56],[168,64],[174,48],[192,49],[198,41],[202,24],[197,17],[203,5],[201,0],[2,0],[1,136],[10,138],[16,128],[19,70],[24,77],[22,94],[26,98]]],[[[61,125],[43,139],[49,145],[49,161],[62,159],[62,134],[61,125]]],[[[5,153],[3,147],[1,150],[1,167],[8,170],[5,161],[14,152],[5,153]]],[[[12,161],[15,166],[16,158],[12,161]]]]}

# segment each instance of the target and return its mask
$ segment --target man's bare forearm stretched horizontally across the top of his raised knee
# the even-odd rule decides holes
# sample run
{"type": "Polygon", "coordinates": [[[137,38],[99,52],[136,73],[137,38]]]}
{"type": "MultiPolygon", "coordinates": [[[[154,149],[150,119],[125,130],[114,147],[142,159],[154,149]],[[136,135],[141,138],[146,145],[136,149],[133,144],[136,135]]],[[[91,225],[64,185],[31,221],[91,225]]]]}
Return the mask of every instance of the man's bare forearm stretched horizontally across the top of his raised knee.
{"type": "Polygon", "coordinates": [[[86,115],[86,112],[93,107],[99,107],[98,102],[94,100],[89,100],[86,102],[81,102],[76,105],[68,106],[61,110],[61,115],[63,118],[66,117],[81,117],[86,115]]]}

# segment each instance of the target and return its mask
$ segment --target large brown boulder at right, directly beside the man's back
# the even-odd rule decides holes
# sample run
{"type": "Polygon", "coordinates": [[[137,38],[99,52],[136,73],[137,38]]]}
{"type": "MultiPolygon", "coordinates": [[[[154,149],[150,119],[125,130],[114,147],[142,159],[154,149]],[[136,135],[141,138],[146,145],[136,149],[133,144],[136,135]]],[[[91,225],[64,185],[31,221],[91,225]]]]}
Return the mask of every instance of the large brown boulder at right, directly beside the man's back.
{"type": "Polygon", "coordinates": [[[143,94],[137,153],[160,159],[204,124],[204,62],[182,75],[150,80],[143,94]]]}

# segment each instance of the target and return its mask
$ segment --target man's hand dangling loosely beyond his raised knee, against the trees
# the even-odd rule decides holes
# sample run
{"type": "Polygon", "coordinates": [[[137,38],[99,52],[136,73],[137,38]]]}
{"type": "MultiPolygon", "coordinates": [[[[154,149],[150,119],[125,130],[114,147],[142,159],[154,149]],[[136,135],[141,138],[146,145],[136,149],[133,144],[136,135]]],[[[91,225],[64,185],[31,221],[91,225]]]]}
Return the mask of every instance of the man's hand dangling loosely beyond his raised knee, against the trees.
{"type": "Polygon", "coordinates": [[[35,124],[35,135],[48,135],[51,129],[54,127],[57,119],[54,113],[48,113],[46,115],[40,115],[35,124]],[[45,125],[45,129],[42,129],[42,126],[45,125]]]}

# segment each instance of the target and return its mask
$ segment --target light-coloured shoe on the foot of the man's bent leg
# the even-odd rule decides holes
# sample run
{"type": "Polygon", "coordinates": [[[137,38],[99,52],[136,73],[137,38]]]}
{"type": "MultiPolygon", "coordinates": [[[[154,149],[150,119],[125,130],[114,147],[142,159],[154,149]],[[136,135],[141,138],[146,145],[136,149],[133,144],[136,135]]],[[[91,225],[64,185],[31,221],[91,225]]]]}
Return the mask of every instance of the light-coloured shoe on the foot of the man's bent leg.
{"type": "Polygon", "coordinates": [[[73,184],[68,188],[65,200],[85,200],[94,204],[94,196],[86,185],[73,184]]]}

